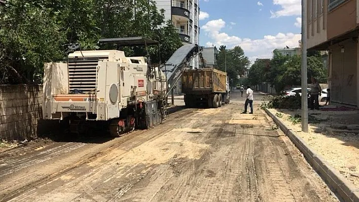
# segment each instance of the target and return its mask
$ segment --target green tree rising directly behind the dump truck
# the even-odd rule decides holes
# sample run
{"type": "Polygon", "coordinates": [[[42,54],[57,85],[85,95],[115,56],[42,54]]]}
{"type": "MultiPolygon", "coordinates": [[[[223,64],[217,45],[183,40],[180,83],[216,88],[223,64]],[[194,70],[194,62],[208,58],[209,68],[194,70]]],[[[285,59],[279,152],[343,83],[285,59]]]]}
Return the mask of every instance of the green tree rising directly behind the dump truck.
{"type": "Polygon", "coordinates": [[[249,59],[244,55],[243,49],[239,46],[229,50],[226,49],[226,46],[221,46],[219,51],[216,69],[221,71],[226,71],[227,69],[227,75],[230,78],[230,85],[235,86],[239,81],[238,75],[244,75],[244,72],[249,66],[249,59]]]}

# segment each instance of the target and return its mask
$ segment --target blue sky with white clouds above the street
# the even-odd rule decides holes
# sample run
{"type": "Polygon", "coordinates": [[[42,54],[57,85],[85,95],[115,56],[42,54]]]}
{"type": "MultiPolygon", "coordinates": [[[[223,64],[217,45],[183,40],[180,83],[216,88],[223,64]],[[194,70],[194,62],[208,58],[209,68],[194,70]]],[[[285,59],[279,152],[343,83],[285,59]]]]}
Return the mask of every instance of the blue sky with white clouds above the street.
{"type": "Polygon", "coordinates": [[[241,46],[251,61],[298,47],[301,0],[199,0],[200,46],[241,46]]]}

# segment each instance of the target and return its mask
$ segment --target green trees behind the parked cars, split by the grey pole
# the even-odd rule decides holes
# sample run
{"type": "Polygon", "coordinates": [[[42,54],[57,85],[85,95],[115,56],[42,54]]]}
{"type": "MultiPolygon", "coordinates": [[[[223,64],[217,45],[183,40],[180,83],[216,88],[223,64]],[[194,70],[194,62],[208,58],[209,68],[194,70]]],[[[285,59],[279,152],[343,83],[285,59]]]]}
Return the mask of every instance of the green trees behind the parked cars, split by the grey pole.
{"type": "MultiPolygon", "coordinates": [[[[275,87],[277,92],[288,86],[301,85],[302,61],[300,55],[282,56],[274,53],[269,65],[264,60],[258,59],[249,69],[248,79],[252,85],[268,82],[275,87]]],[[[316,77],[319,82],[327,82],[327,69],[324,68],[320,54],[311,52],[307,58],[308,83],[310,78],[316,77]]]]}

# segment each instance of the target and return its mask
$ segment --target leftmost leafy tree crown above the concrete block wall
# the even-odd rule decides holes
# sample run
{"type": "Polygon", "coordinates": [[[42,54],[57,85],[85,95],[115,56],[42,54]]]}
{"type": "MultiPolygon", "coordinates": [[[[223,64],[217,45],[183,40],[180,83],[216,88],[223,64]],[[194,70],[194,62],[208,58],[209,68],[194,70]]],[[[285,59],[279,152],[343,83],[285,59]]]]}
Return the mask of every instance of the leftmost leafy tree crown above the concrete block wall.
{"type": "Polygon", "coordinates": [[[44,62],[62,59],[58,13],[34,4],[12,0],[0,13],[0,84],[29,83],[44,62]]]}

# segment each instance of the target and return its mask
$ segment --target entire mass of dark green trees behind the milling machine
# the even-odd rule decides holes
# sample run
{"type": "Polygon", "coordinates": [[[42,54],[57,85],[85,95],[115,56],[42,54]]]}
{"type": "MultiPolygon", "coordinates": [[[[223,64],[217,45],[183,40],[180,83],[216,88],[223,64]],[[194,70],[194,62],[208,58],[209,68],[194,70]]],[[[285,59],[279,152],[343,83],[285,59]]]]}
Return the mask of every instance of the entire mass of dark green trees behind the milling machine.
{"type": "MultiPolygon", "coordinates": [[[[117,49],[99,45],[99,38],[157,40],[160,54],[157,47],[148,51],[153,62],[164,62],[182,46],[174,26],[164,19],[164,10],[149,0],[8,0],[0,12],[0,84],[33,82],[42,76],[45,62],[66,58],[64,44],[117,49]]],[[[126,56],[145,55],[140,47],[124,51],[126,56]]]]}

